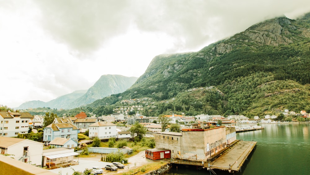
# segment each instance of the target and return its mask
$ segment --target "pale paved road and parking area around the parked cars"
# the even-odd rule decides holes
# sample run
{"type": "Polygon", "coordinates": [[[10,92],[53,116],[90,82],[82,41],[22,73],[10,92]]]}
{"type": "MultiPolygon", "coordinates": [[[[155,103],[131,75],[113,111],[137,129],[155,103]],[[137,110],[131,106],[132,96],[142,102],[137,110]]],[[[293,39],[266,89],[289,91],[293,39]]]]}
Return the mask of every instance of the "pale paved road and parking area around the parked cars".
{"type": "MultiPolygon", "coordinates": [[[[99,154],[98,154],[99,155],[99,154]]],[[[103,169],[103,173],[102,174],[113,174],[112,171],[110,170],[105,170],[104,166],[107,164],[111,164],[109,162],[101,162],[100,161],[101,156],[95,156],[95,157],[91,157],[91,158],[77,158],[74,159],[76,161],[79,161],[78,165],[73,165],[71,167],[66,167],[66,168],[56,168],[56,169],[52,169],[52,170],[48,170],[51,171],[53,173],[57,173],[57,174],[67,174],[71,175],[73,174],[74,170],[75,171],[84,171],[85,168],[92,168],[92,167],[99,167],[103,169]]],[[[125,168],[122,169],[118,169],[117,173],[120,172],[125,172],[125,171],[129,171],[131,169],[134,169],[135,167],[139,167],[142,166],[146,163],[149,162],[153,162],[153,160],[151,159],[147,159],[145,158],[145,151],[141,151],[138,154],[128,158],[128,164],[125,164],[125,168]]]]}

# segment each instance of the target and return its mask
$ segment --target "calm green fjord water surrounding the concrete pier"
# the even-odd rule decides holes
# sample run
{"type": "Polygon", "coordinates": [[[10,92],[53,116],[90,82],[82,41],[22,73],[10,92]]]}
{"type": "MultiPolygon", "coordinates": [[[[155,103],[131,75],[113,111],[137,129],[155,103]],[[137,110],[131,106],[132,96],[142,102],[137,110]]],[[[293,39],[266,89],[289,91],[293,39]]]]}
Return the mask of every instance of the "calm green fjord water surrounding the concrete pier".
{"type": "MultiPolygon", "coordinates": [[[[246,125],[242,125],[246,126],[246,125]]],[[[310,123],[262,124],[258,131],[237,133],[237,139],[257,141],[240,175],[310,174],[310,123]]],[[[232,174],[216,171],[217,174],[232,174]]],[[[172,167],[168,175],[206,175],[206,169],[172,167]]],[[[213,175],[213,173],[211,173],[213,175]]]]}

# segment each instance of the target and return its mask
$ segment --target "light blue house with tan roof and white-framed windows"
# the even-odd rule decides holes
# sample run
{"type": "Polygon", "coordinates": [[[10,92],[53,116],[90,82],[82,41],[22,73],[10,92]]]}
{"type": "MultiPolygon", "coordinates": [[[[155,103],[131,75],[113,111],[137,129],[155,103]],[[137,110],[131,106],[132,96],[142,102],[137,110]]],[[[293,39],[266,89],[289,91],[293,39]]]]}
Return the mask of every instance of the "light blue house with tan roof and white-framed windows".
{"type": "Polygon", "coordinates": [[[79,132],[78,128],[72,123],[52,123],[43,130],[43,142],[49,144],[57,137],[72,138],[78,141],[79,132]]]}

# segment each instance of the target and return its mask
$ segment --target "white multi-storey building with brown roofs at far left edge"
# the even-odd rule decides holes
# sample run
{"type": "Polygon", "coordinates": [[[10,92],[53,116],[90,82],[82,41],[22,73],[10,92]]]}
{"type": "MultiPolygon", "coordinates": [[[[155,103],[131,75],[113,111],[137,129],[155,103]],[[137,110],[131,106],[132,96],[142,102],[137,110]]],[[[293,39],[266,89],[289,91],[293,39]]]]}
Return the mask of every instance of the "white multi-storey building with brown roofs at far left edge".
{"type": "MultiPolygon", "coordinates": [[[[31,116],[31,114],[29,113],[31,116]]],[[[22,113],[0,112],[0,136],[16,137],[18,134],[26,134],[29,131],[29,120],[23,118],[22,113]]]]}

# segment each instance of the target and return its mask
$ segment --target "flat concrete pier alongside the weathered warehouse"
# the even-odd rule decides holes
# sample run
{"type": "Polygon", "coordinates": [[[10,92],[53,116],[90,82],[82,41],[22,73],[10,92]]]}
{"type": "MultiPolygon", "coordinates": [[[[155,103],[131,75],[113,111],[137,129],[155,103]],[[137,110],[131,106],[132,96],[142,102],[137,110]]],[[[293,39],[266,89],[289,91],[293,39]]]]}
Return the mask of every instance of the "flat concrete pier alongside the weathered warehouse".
{"type": "Polygon", "coordinates": [[[256,143],[256,141],[239,141],[218,158],[206,162],[204,168],[226,170],[231,173],[237,172],[254,149],[256,143]]]}

